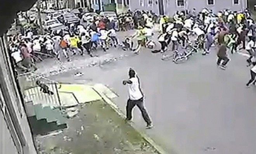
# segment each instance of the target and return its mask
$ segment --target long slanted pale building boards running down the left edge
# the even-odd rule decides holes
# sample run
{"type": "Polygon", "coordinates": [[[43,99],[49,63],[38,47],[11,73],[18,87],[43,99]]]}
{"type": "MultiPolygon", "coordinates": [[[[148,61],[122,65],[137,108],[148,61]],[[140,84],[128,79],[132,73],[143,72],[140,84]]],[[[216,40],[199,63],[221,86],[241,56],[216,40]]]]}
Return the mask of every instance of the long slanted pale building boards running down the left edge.
{"type": "Polygon", "coordinates": [[[5,37],[0,37],[0,108],[5,111],[5,118],[16,148],[22,149],[23,154],[36,154],[31,129],[22,104],[22,96],[10,63],[6,40],[5,37]]]}

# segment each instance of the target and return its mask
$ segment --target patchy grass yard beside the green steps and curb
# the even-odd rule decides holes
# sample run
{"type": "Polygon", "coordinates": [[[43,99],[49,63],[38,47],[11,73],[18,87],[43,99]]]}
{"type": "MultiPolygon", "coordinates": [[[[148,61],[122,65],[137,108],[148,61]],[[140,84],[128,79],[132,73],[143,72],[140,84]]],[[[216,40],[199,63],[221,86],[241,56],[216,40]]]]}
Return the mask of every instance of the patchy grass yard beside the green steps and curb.
{"type": "Polygon", "coordinates": [[[67,125],[62,133],[35,137],[39,154],[157,154],[102,101],[80,106],[67,125]]]}

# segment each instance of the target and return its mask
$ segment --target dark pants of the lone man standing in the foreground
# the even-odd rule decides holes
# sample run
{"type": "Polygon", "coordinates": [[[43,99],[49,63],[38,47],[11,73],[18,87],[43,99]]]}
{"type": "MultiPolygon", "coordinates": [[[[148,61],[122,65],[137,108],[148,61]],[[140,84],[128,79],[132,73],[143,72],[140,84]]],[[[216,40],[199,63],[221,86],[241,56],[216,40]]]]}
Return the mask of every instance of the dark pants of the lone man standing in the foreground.
{"type": "Polygon", "coordinates": [[[131,120],[131,118],[132,118],[131,112],[135,105],[137,105],[138,108],[140,109],[140,111],[142,113],[142,117],[146,121],[146,123],[151,124],[151,120],[149,118],[149,115],[147,114],[147,110],[144,107],[143,98],[138,99],[138,100],[128,99],[127,105],[126,105],[126,118],[128,120],[131,120]]]}

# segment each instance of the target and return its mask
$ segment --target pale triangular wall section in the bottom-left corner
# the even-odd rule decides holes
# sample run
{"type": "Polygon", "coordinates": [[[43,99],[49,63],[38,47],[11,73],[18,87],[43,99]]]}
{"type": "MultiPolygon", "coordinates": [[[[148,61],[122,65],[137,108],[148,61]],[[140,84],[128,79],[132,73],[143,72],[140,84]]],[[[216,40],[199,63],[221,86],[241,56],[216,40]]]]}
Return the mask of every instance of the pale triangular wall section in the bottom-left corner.
{"type": "Polygon", "coordinates": [[[0,154],[18,154],[2,111],[0,111],[0,137],[0,154]]]}

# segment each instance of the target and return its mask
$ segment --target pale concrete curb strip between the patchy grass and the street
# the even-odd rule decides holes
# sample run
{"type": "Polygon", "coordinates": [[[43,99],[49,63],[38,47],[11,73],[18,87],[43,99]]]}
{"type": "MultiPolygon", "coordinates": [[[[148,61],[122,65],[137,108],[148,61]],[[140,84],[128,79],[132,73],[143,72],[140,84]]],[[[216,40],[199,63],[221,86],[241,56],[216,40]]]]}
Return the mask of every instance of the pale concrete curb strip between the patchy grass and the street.
{"type": "MultiPolygon", "coordinates": [[[[109,106],[116,111],[116,113],[118,113],[119,116],[121,116],[121,118],[125,119],[125,115],[121,112],[121,110],[119,110],[118,106],[111,101],[111,99],[109,99],[104,93],[102,92],[98,92],[96,91],[93,87],[92,89],[97,92],[97,94],[99,94],[99,96],[103,99],[104,102],[106,102],[107,104],[109,104],[109,106]]],[[[146,135],[145,133],[139,131],[137,128],[135,128],[133,126],[132,123],[128,123],[128,125],[130,125],[133,129],[135,129],[136,132],[138,132],[142,138],[149,143],[156,151],[158,154],[168,154],[162,147],[160,147],[159,145],[157,145],[154,140],[152,140],[148,135],[146,135]]]]}

